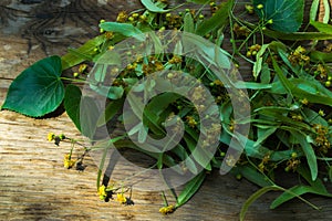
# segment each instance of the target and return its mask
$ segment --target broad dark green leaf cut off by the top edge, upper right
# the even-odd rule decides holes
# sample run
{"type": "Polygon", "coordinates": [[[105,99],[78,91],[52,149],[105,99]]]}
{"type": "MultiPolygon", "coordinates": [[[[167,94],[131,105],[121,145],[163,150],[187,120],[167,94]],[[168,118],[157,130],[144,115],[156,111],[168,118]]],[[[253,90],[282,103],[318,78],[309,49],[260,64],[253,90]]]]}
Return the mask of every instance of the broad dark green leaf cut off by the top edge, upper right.
{"type": "Polygon", "coordinates": [[[303,20],[304,0],[253,0],[257,14],[263,21],[272,20],[271,29],[281,32],[295,32],[303,20]],[[258,9],[262,4],[262,9],[258,9]]]}

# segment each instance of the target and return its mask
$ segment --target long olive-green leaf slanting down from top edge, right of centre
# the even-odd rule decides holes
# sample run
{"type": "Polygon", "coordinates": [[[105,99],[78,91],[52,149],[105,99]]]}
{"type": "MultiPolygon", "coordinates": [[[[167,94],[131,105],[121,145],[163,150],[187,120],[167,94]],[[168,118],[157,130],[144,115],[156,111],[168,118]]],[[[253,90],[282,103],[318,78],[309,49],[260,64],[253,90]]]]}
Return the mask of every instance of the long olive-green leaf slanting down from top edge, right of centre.
{"type": "Polygon", "coordinates": [[[220,4],[220,9],[218,9],[218,11],[216,11],[216,13],[211,18],[205,20],[197,27],[196,34],[204,36],[207,33],[225,25],[227,23],[229,11],[231,10],[232,6],[234,0],[222,2],[220,4]]]}

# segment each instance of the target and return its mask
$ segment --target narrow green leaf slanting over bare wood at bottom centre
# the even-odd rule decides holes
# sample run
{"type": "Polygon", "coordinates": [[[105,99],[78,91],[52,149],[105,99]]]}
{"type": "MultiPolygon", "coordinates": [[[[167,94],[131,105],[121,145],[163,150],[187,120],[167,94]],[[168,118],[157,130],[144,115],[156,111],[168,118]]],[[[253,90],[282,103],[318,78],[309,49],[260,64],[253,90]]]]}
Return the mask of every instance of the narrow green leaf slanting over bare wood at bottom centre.
{"type": "Polygon", "coordinates": [[[204,179],[205,171],[199,172],[194,179],[186,183],[185,189],[179,193],[176,202],[176,208],[185,204],[199,189],[204,179]]]}

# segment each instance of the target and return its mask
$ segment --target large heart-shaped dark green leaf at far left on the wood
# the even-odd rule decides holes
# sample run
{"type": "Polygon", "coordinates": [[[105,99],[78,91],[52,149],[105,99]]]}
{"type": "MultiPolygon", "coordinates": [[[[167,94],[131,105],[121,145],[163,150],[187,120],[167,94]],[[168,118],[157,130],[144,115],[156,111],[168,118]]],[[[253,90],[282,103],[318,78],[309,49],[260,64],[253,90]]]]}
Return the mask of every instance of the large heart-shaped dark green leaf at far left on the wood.
{"type": "Polygon", "coordinates": [[[61,59],[50,56],[24,70],[9,86],[1,108],[31,117],[55,110],[64,97],[61,59]]]}

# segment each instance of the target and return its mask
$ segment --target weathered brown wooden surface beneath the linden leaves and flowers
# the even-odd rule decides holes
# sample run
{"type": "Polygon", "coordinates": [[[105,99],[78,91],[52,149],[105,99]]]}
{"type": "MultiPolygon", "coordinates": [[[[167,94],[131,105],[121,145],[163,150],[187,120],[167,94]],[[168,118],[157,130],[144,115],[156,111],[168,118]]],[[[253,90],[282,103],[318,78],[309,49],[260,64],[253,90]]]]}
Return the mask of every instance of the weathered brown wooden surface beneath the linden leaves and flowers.
{"type": "MultiPolygon", "coordinates": [[[[54,38],[52,41],[56,40],[56,43],[48,38],[41,38],[44,35],[40,33],[45,33],[43,28],[52,23],[56,27],[59,19],[66,14],[70,15],[71,22],[79,22],[76,28],[94,34],[96,30],[91,27],[95,25],[98,19],[106,14],[114,19],[120,3],[128,3],[110,1],[107,10],[94,13],[91,6],[95,6],[95,1],[77,0],[74,1],[73,8],[70,8],[76,11],[66,10],[59,15],[62,8],[58,8],[51,19],[46,18],[46,25],[43,23],[45,18],[42,18],[42,14],[39,15],[40,19],[37,17],[35,13],[41,9],[35,4],[35,9],[31,11],[37,19],[29,21],[34,27],[31,23],[22,24],[13,32],[10,17],[4,13],[13,14],[15,18],[27,15],[28,12],[22,11],[24,8],[8,7],[10,2],[0,2],[0,18],[3,24],[0,36],[0,104],[3,103],[10,83],[20,71],[45,54],[63,53],[65,48],[72,44],[68,35],[54,38]],[[87,12],[90,15],[85,17],[85,20],[90,22],[82,22],[82,17],[87,12]],[[6,22],[9,25],[6,25],[6,22]],[[30,31],[31,35],[21,36],[23,30],[30,31]]],[[[129,7],[135,6],[137,2],[131,3],[129,7]]],[[[70,21],[64,20],[61,27],[64,28],[70,21]]],[[[71,38],[83,40],[86,36],[83,34],[80,39],[73,34],[71,38]]],[[[85,158],[84,171],[63,168],[63,155],[69,151],[70,144],[64,143],[56,147],[48,143],[45,136],[49,131],[81,138],[66,114],[53,118],[32,119],[8,110],[0,112],[0,220],[238,220],[241,204],[258,189],[246,180],[238,181],[230,175],[220,176],[215,171],[208,176],[200,191],[187,204],[167,217],[158,213],[159,207],[163,206],[158,192],[145,192],[134,188],[132,194],[134,206],[121,206],[114,201],[106,203],[96,194],[97,167],[92,158],[89,156],[85,158]]],[[[118,164],[115,172],[123,178],[129,176],[131,171],[122,170],[121,162],[118,164]]],[[[270,210],[269,203],[276,196],[269,193],[255,202],[250,207],[247,220],[332,220],[330,199],[307,196],[311,202],[322,208],[321,211],[315,211],[299,200],[270,210]]]]}

